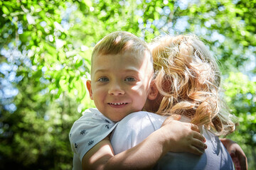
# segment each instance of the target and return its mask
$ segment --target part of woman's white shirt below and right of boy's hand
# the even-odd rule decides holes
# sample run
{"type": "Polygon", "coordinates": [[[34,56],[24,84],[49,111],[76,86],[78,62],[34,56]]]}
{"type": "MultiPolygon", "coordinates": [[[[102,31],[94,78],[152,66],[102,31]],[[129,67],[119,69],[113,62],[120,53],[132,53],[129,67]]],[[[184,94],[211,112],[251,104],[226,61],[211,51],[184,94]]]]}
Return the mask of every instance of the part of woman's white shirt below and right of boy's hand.
{"type": "Polygon", "coordinates": [[[207,149],[201,156],[169,152],[154,169],[234,169],[227,150],[218,137],[203,130],[207,149]]]}

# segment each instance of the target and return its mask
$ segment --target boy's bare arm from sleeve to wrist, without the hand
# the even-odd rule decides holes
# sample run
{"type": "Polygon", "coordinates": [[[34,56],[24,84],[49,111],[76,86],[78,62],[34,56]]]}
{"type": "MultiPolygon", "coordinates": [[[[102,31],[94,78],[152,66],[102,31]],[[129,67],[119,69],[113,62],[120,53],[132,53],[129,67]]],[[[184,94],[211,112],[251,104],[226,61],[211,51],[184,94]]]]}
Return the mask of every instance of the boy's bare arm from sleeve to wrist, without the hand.
{"type": "Polygon", "coordinates": [[[82,169],[151,169],[161,155],[166,154],[162,145],[158,144],[158,140],[153,136],[116,155],[110,140],[106,137],[85,154],[82,158],[82,169]]]}

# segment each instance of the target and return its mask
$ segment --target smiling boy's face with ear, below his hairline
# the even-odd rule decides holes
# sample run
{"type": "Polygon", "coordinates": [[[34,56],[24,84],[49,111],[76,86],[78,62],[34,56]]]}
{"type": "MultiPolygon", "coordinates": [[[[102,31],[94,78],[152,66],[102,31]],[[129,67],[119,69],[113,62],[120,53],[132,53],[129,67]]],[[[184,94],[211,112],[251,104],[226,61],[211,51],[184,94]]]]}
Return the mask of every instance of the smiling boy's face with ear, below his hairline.
{"type": "Polygon", "coordinates": [[[119,121],[129,113],[142,111],[153,74],[149,59],[148,53],[142,57],[129,51],[95,56],[87,89],[103,115],[119,121]]]}

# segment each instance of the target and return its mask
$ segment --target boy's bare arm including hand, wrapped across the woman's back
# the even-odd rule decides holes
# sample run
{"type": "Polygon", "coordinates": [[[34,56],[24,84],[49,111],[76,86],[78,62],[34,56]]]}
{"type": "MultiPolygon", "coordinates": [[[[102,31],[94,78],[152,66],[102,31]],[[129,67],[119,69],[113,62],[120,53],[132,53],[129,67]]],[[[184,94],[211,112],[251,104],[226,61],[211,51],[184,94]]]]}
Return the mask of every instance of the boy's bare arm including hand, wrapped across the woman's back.
{"type": "Polygon", "coordinates": [[[106,137],[85,154],[82,169],[151,169],[167,152],[202,154],[205,139],[195,126],[169,121],[139,145],[116,155],[106,137]]]}

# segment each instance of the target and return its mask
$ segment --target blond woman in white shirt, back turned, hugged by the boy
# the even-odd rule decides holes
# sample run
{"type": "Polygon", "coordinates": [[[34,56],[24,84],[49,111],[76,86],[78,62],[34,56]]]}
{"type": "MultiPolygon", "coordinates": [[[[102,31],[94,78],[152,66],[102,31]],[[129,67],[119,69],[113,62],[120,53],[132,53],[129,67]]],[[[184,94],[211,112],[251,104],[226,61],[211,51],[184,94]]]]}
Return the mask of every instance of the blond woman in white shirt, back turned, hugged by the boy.
{"type": "Polygon", "coordinates": [[[186,35],[165,36],[151,45],[156,98],[148,100],[144,110],[157,115],[133,113],[119,122],[111,138],[114,153],[139,144],[161,127],[167,115],[178,114],[181,121],[201,126],[208,148],[201,157],[169,152],[154,169],[234,169],[218,135],[233,132],[235,123],[219,96],[220,71],[207,47],[186,35]]]}

